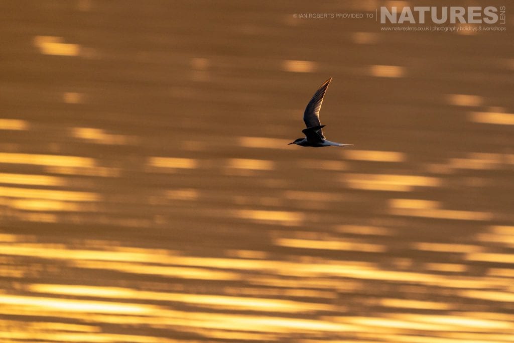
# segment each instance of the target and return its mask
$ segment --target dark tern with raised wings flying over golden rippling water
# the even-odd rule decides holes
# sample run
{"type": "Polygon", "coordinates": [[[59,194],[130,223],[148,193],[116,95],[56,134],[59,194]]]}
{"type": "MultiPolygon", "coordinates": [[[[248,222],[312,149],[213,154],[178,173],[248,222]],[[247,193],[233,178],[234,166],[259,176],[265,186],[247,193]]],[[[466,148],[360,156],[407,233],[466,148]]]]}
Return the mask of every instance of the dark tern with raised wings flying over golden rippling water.
{"type": "Polygon", "coordinates": [[[307,107],[305,107],[305,112],[303,113],[303,121],[305,122],[306,129],[303,129],[302,132],[305,135],[305,138],[297,138],[295,141],[290,142],[290,144],[296,144],[302,147],[353,147],[353,144],[342,144],[331,142],[325,138],[323,135],[323,128],[325,125],[321,125],[320,122],[320,109],[321,103],[323,102],[323,97],[325,96],[326,89],[328,85],[332,81],[332,78],[329,78],[319,87],[319,89],[314,93],[312,99],[310,99],[307,107]]]}

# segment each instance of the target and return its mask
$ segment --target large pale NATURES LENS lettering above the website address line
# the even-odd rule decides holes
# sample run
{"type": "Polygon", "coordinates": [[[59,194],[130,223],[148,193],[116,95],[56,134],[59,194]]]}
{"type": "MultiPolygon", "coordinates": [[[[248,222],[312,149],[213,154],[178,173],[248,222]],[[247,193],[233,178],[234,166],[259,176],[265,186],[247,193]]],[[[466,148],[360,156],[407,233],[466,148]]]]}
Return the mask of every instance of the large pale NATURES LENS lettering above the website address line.
{"type": "Polygon", "coordinates": [[[380,7],[380,24],[505,24],[505,6],[380,7]]]}

